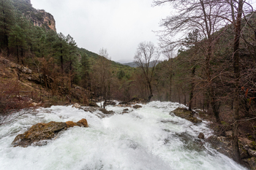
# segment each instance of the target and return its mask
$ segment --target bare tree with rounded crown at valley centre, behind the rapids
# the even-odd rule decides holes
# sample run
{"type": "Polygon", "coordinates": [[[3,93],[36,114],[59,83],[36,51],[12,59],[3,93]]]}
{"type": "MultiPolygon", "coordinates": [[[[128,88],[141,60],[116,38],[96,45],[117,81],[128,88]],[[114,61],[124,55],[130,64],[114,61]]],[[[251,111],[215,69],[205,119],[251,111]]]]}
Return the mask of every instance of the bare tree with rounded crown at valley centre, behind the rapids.
{"type": "Polygon", "coordinates": [[[155,47],[152,42],[140,42],[134,57],[135,63],[137,63],[140,69],[142,69],[144,78],[148,83],[148,88],[150,92],[150,95],[148,96],[148,101],[150,101],[153,97],[151,81],[159,57],[160,53],[157,50],[157,47],[155,47]]]}

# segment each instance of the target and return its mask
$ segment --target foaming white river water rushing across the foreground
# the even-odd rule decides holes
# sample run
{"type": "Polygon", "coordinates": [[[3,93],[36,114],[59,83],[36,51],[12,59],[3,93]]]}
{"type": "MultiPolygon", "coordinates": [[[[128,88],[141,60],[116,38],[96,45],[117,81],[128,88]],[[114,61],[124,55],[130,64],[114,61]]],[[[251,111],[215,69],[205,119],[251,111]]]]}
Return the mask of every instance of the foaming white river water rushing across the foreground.
{"type": "Polygon", "coordinates": [[[108,106],[117,114],[105,118],[71,106],[23,115],[0,126],[0,169],[245,169],[197,138],[200,132],[211,136],[206,122],[194,125],[170,115],[179,104],[152,101],[142,106],[127,107],[124,115],[118,114],[124,107],[108,106]],[[69,128],[45,146],[11,145],[15,136],[36,123],[82,118],[89,128],[69,128]]]}

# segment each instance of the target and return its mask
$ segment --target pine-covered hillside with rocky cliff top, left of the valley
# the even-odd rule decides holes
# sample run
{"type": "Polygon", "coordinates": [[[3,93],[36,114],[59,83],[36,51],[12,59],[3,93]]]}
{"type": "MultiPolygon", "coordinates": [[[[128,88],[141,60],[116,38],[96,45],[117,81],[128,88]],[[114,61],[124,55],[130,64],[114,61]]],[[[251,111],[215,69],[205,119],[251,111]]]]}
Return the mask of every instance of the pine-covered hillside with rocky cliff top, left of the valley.
{"type": "MultiPolygon", "coordinates": [[[[66,96],[73,85],[79,85],[87,98],[99,98],[107,93],[107,80],[118,82],[132,75],[132,68],[108,60],[107,53],[102,57],[79,48],[72,36],[56,33],[52,15],[34,9],[30,1],[3,0],[0,7],[1,55],[31,69],[37,74],[34,80],[50,93],[66,96]],[[100,80],[102,72],[107,75],[104,80],[100,80]]],[[[121,90],[121,85],[114,88],[121,90]]]]}

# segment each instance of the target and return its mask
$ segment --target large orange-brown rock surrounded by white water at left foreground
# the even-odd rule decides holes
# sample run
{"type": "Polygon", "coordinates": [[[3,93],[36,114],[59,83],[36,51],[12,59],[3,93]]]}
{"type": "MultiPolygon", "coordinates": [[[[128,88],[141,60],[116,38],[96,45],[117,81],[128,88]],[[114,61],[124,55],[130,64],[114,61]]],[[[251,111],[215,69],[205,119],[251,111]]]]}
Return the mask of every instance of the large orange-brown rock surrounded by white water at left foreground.
{"type": "MultiPolygon", "coordinates": [[[[50,123],[37,123],[29,128],[29,131],[16,136],[12,145],[14,147],[28,147],[31,144],[42,145],[43,140],[53,139],[60,131],[74,127],[75,125],[89,127],[86,119],[79,120],[78,123],[73,123],[72,121],[67,121],[66,123],[53,121],[50,123]]],[[[43,144],[47,144],[47,142],[43,144]]]]}

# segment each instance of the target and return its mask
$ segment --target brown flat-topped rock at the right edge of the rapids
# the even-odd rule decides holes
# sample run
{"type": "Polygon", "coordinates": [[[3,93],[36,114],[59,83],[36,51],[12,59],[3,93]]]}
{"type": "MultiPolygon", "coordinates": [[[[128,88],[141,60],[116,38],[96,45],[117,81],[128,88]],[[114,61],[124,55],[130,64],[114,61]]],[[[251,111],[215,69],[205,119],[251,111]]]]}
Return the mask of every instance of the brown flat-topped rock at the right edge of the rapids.
{"type": "Polygon", "coordinates": [[[197,119],[197,117],[193,117],[192,112],[185,108],[177,108],[173,110],[174,115],[187,119],[192,123],[201,123],[202,120],[197,119]]]}

